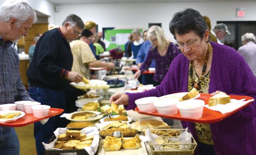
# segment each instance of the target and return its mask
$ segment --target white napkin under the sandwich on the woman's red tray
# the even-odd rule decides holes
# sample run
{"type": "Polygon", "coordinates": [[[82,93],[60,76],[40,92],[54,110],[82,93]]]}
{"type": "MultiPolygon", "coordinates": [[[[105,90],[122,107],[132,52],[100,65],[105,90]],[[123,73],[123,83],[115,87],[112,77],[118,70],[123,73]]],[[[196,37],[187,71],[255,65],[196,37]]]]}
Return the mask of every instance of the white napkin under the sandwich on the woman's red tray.
{"type": "Polygon", "coordinates": [[[206,108],[214,110],[214,111],[219,111],[222,114],[234,111],[235,109],[240,108],[241,106],[245,105],[248,102],[252,102],[254,101],[254,99],[248,100],[248,101],[244,101],[245,99],[241,99],[241,100],[236,100],[236,99],[231,99],[230,103],[227,104],[217,104],[216,106],[208,106],[204,105],[206,108]]]}

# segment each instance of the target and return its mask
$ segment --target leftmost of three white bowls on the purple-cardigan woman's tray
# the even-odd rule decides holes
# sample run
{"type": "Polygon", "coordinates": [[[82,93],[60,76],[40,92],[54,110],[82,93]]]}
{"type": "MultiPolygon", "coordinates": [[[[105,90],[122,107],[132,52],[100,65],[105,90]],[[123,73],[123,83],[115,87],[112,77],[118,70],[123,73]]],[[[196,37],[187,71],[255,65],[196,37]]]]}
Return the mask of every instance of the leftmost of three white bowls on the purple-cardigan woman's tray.
{"type": "Polygon", "coordinates": [[[154,102],[158,100],[158,97],[146,97],[135,100],[135,103],[140,111],[154,112],[156,107],[154,102]]]}

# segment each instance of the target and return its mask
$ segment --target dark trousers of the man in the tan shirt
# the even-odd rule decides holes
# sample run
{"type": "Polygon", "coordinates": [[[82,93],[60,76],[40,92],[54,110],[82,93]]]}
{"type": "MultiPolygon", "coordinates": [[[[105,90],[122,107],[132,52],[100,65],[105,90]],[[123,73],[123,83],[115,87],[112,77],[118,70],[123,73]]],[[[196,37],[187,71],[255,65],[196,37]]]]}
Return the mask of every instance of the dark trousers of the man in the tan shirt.
{"type": "Polygon", "coordinates": [[[86,92],[81,89],[77,89],[72,87],[71,85],[68,85],[66,87],[66,113],[72,113],[74,111],[77,111],[78,107],[76,107],[76,101],[77,97],[84,95],[86,92]]]}

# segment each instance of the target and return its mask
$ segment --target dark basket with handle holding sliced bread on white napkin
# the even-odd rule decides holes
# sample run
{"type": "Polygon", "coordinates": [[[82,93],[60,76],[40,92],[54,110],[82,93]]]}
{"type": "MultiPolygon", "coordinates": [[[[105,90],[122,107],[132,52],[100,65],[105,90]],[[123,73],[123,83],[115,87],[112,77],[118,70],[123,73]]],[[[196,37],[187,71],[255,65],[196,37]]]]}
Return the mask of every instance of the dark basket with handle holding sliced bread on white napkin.
{"type": "MultiPolygon", "coordinates": [[[[56,137],[53,135],[53,137],[50,138],[49,143],[53,142],[56,137]]],[[[75,150],[45,150],[45,155],[60,155],[60,153],[69,153],[69,152],[77,152],[77,155],[89,155],[89,153],[84,149],[75,149],[75,150]]]]}

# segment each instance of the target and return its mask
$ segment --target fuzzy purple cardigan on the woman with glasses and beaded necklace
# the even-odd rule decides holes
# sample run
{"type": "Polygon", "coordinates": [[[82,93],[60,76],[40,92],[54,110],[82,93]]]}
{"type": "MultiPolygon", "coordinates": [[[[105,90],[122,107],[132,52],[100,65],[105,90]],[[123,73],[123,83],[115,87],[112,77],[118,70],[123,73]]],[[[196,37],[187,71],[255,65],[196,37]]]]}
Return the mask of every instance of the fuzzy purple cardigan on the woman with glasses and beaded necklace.
{"type": "MultiPolygon", "coordinates": [[[[211,45],[213,56],[208,92],[213,93],[220,90],[230,95],[251,96],[256,99],[256,78],[243,57],[229,46],[214,42],[211,42],[211,45]]],[[[161,85],[154,90],[143,93],[127,93],[129,105],[125,108],[135,109],[135,100],[138,98],[186,92],[188,67],[189,60],[183,54],[179,54],[170,65],[161,85]]],[[[182,125],[184,128],[188,127],[195,140],[197,140],[194,123],[182,121],[182,125]]],[[[210,124],[210,127],[216,155],[255,155],[255,101],[232,116],[210,124]]],[[[199,154],[199,148],[197,147],[195,155],[199,154]]]]}

